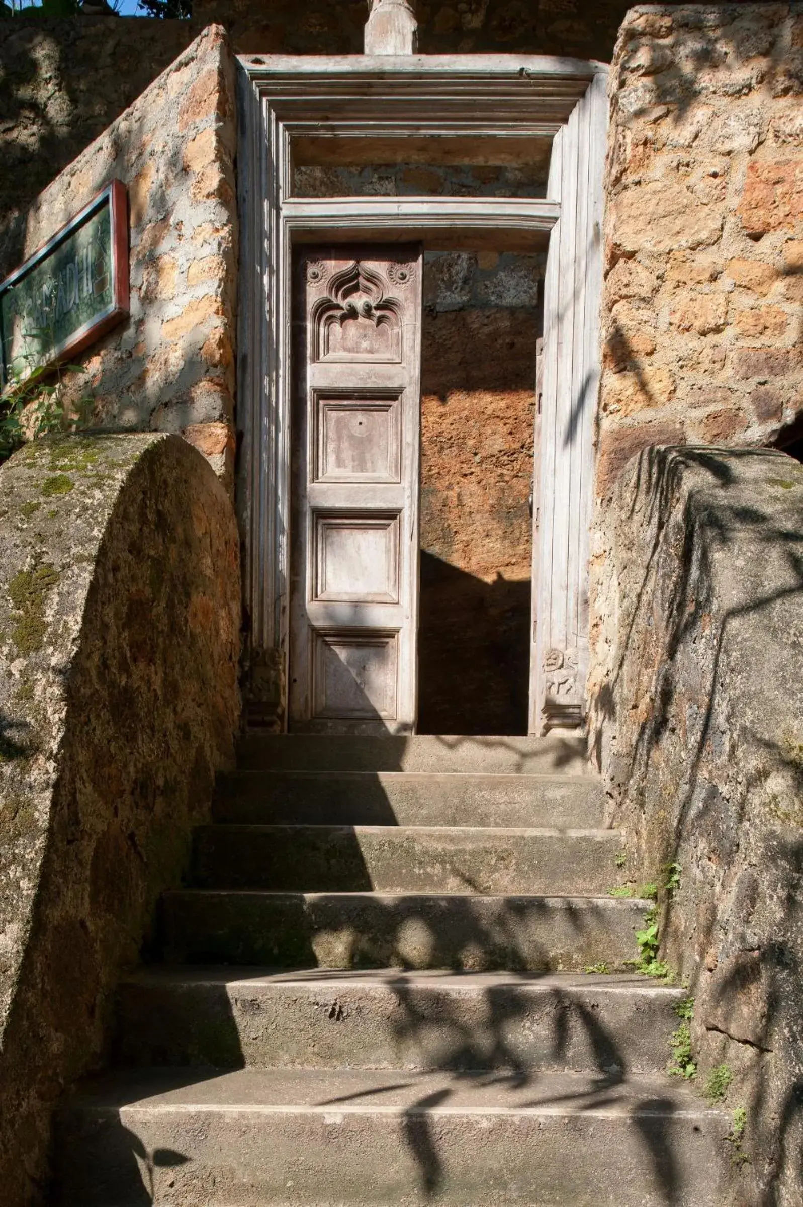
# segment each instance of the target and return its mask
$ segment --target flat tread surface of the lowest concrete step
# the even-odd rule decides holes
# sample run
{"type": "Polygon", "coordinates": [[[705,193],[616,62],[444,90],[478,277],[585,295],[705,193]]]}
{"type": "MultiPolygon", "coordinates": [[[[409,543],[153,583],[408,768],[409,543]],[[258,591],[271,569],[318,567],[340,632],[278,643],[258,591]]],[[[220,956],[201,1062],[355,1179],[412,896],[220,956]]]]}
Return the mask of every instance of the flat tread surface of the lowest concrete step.
{"type": "Polygon", "coordinates": [[[665,1074],[409,1073],[398,1069],[146,1069],[86,1084],[66,1110],[231,1114],[650,1115],[723,1118],[665,1074]],[[435,1104],[427,1104],[430,1103],[435,1104]]]}

